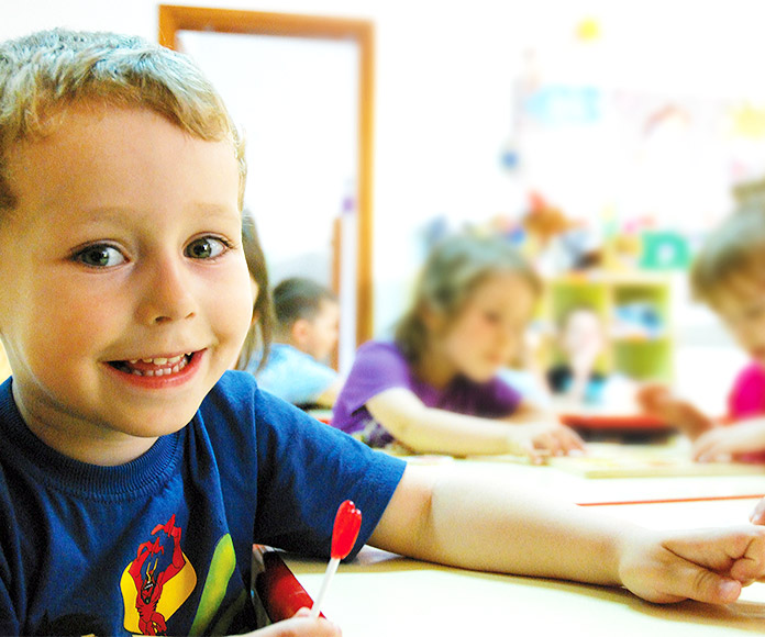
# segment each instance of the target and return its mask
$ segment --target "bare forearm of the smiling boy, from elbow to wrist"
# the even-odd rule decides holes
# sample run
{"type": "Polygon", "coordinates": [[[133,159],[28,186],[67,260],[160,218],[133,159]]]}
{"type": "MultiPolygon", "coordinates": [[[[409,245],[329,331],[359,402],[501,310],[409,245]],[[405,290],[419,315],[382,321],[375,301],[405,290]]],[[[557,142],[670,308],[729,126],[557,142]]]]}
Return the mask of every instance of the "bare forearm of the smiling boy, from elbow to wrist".
{"type": "Polygon", "coordinates": [[[476,570],[621,583],[621,543],[635,527],[489,476],[444,471],[431,488],[426,523],[407,555],[476,570]]]}

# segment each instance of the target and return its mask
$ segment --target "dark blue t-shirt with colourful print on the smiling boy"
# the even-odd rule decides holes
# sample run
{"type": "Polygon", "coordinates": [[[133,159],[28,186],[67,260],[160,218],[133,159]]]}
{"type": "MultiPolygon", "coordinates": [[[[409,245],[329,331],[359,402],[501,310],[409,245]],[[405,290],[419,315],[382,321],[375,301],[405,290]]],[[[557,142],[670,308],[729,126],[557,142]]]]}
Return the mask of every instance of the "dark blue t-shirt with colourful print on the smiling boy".
{"type": "Polygon", "coordinates": [[[363,512],[357,550],[404,467],[232,371],[142,457],[87,465],[29,431],[11,382],[0,387],[0,635],[252,630],[253,543],[329,557],[350,499],[363,512]]]}

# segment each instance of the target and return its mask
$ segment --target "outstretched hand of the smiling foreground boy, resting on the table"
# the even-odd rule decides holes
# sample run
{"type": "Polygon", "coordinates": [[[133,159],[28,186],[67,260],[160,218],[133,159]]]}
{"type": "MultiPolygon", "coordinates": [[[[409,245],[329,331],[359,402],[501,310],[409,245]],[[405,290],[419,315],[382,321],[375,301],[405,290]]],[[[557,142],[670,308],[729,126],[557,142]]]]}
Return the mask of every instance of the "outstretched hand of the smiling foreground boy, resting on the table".
{"type": "Polygon", "coordinates": [[[659,604],[729,604],[765,575],[765,528],[658,532],[625,540],[619,574],[636,595],[659,604]]]}

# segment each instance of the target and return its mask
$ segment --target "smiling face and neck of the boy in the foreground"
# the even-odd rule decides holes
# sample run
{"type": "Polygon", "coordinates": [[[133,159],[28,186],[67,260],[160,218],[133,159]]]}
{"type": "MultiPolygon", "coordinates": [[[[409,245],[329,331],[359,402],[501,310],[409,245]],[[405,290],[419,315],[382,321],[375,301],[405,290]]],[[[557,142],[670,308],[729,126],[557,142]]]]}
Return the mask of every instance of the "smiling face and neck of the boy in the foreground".
{"type": "Polygon", "coordinates": [[[30,428],[100,465],[188,423],[252,316],[232,145],[145,109],[71,110],[10,156],[0,334],[30,428]]]}

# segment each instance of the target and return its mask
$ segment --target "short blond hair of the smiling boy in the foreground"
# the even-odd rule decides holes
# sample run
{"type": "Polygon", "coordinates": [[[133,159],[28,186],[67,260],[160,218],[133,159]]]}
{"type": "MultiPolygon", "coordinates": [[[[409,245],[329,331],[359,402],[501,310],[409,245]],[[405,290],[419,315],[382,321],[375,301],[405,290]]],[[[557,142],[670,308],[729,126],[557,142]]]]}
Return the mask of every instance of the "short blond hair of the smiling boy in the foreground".
{"type": "Polygon", "coordinates": [[[0,43],[0,213],[16,198],[8,175],[13,144],[55,131],[75,105],[155,111],[195,137],[244,145],[222,99],[191,59],[141,37],[53,30],[0,43]]]}

